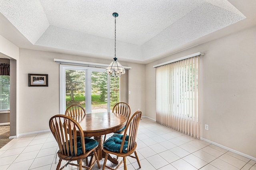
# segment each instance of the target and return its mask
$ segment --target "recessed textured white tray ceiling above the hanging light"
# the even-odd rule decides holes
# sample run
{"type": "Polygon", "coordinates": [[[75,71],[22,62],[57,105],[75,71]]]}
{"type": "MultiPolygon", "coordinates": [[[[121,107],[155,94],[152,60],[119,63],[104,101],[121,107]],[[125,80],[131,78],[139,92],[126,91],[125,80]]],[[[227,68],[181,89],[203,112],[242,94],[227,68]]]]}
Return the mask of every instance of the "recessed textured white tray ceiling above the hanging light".
{"type": "Polygon", "coordinates": [[[2,0],[0,12],[33,45],[106,59],[117,12],[117,57],[137,61],[246,19],[228,0],[2,0]]]}

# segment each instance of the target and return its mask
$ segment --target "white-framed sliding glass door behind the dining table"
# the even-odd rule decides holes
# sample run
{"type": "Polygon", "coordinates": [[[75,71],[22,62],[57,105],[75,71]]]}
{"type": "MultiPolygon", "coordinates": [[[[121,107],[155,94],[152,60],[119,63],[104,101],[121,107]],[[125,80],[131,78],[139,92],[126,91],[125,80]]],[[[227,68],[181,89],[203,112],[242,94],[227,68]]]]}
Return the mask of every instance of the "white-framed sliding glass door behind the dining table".
{"type": "Polygon", "coordinates": [[[104,68],[60,65],[60,112],[73,104],[86,113],[110,111],[119,102],[119,86],[119,78],[110,78],[104,68]]]}

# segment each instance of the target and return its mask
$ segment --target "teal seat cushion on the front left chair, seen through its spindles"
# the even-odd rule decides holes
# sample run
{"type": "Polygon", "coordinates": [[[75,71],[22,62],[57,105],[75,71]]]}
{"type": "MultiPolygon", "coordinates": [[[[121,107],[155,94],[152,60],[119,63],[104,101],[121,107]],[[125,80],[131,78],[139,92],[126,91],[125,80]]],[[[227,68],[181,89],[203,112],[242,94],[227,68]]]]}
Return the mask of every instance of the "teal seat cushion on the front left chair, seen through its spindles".
{"type": "MultiPolygon", "coordinates": [[[[81,137],[76,137],[76,147],[77,147],[77,156],[80,154],[83,154],[82,152],[82,142],[81,142],[81,137]]],[[[85,150],[92,150],[94,147],[98,146],[98,141],[94,140],[94,139],[90,139],[88,137],[84,138],[85,141],[85,150]]],[[[72,139],[72,143],[74,143],[74,139],[72,139]]],[[[66,145],[66,143],[65,143],[66,145]]],[[[71,154],[70,152],[70,141],[68,141],[68,147],[69,147],[69,154],[72,156],[75,156],[75,151],[74,151],[74,146],[73,147],[73,153],[71,154]]],[[[67,150],[66,150],[67,151],[67,150]]]]}

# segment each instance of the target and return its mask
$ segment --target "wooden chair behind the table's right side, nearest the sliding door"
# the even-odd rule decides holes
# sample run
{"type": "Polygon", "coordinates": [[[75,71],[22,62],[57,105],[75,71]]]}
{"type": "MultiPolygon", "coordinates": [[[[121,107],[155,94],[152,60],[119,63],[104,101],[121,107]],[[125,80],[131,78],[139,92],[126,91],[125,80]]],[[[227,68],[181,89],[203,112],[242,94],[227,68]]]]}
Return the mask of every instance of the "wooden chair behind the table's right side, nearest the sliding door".
{"type": "MultiPolygon", "coordinates": [[[[130,108],[130,106],[127,103],[119,102],[119,103],[115,104],[115,106],[112,109],[112,112],[125,115],[126,118],[127,118],[126,124],[128,123],[128,120],[129,120],[130,114],[131,114],[131,108],[130,108]]],[[[119,129],[118,131],[116,131],[114,133],[118,133],[118,134],[124,133],[125,127],[126,127],[126,125],[122,129],[119,129]]],[[[103,142],[105,142],[105,141],[106,141],[106,135],[104,137],[104,141],[103,142]]]]}

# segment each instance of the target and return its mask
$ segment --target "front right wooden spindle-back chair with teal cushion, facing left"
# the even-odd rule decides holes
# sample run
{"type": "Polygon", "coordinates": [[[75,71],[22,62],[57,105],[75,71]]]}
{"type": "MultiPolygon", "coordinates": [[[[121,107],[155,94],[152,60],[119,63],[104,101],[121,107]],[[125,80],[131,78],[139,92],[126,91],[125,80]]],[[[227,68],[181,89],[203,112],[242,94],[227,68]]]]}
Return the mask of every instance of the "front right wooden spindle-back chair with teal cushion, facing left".
{"type": "Polygon", "coordinates": [[[105,167],[110,170],[116,170],[120,166],[120,164],[122,164],[122,162],[124,162],[124,170],[127,170],[126,156],[136,158],[139,164],[139,167],[141,168],[140,161],[136,153],[136,147],[137,147],[136,136],[137,136],[141,115],[142,115],[141,111],[136,111],[134,115],[132,115],[132,117],[128,121],[126,128],[124,130],[125,135],[116,133],[112,137],[108,138],[107,141],[104,142],[103,151],[106,153],[106,156],[105,156],[102,170],[105,170],[105,167]],[[135,154],[135,156],[131,155],[133,153],[135,154]],[[118,157],[123,157],[123,160],[120,161],[120,163],[115,169],[109,166],[106,166],[108,154],[114,154],[118,157]]]}

